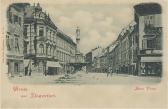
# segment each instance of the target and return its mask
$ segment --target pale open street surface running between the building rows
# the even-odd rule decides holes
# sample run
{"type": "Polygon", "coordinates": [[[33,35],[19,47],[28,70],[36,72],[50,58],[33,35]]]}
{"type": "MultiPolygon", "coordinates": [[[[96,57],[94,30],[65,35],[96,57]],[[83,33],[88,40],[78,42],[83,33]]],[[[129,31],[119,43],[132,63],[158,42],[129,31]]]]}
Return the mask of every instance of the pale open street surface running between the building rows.
{"type": "Polygon", "coordinates": [[[160,77],[140,77],[124,74],[86,73],[84,71],[69,75],[44,76],[34,73],[32,76],[10,77],[12,83],[25,84],[155,84],[161,81],[160,77]]]}

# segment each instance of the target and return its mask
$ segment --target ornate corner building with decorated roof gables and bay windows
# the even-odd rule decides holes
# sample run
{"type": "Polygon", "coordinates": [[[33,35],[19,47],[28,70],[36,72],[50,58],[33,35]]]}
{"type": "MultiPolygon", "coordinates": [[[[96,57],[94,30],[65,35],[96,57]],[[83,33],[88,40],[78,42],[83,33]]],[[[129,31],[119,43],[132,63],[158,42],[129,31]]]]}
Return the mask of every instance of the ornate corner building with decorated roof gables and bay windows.
{"type": "Polygon", "coordinates": [[[57,73],[57,27],[40,4],[24,6],[25,67],[34,72],[57,73]]]}

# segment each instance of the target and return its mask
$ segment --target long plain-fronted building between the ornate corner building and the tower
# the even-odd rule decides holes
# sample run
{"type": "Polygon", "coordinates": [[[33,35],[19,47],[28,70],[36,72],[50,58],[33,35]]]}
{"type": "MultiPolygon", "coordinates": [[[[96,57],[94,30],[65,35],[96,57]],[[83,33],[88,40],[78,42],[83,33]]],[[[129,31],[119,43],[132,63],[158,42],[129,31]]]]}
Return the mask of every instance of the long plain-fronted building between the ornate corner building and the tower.
{"type": "Polygon", "coordinates": [[[71,71],[73,66],[70,63],[75,63],[76,44],[60,30],[57,32],[57,37],[58,60],[63,67],[63,72],[71,71]]]}

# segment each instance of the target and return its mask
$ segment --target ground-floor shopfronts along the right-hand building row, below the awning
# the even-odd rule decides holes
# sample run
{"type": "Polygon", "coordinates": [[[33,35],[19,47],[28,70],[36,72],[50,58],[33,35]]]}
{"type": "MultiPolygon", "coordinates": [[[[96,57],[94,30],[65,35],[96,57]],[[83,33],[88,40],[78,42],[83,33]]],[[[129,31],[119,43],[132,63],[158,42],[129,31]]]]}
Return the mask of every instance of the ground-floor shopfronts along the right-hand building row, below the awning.
{"type": "Polygon", "coordinates": [[[162,76],[161,61],[139,61],[134,64],[109,67],[108,72],[134,76],[162,76]]]}

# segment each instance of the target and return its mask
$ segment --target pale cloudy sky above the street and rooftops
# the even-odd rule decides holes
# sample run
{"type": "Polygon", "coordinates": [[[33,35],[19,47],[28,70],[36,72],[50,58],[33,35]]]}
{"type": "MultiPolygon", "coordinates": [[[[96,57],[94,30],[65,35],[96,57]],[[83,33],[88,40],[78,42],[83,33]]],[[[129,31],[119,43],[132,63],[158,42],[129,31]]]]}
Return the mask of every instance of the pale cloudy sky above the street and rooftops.
{"type": "Polygon", "coordinates": [[[79,48],[82,53],[116,40],[122,28],[133,20],[133,5],[121,4],[41,4],[55,25],[75,42],[80,28],[79,48]]]}

